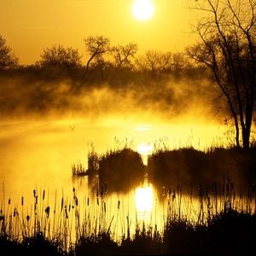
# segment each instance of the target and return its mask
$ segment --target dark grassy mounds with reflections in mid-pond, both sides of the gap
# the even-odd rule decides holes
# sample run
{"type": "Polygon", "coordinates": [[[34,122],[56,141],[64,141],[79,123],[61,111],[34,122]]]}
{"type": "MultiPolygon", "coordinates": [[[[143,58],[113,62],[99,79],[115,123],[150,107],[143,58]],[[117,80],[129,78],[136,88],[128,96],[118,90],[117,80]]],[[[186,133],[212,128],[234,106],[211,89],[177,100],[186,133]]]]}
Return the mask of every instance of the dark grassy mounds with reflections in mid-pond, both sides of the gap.
{"type": "Polygon", "coordinates": [[[140,154],[123,148],[102,155],[91,151],[87,172],[83,166],[73,166],[73,176],[88,175],[91,188],[99,182],[100,186],[108,184],[109,192],[127,192],[147,174],[159,193],[179,184],[183,193],[194,195],[202,185],[211,189],[213,183],[224,183],[232,177],[236,192],[246,194],[247,188],[256,183],[255,166],[255,147],[157,150],[148,156],[148,166],[143,166],[140,154]]]}

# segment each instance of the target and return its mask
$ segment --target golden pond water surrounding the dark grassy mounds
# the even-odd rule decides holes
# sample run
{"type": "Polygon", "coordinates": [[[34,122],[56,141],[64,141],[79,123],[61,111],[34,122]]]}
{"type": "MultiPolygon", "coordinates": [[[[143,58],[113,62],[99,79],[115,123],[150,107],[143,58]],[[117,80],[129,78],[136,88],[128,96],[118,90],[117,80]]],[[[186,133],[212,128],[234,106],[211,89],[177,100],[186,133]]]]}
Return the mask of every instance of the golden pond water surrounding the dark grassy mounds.
{"type": "MultiPolygon", "coordinates": [[[[113,118],[12,120],[2,121],[0,129],[0,200],[5,212],[10,213],[16,208],[23,216],[32,216],[35,205],[33,190],[36,190],[38,200],[41,199],[37,211],[41,211],[42,218],[45,218],[45,208],[49,206],[49,218],[52,221],[55,218],[54,209],[55,212],[57,209],[62,213],[67,211],[70,214],[69,221],[75,221],[77,209],[81,221],[90,218],[87,230],[92,230],[93,226],[102,222],[104,227],[111,226],[113,233],[118,235],[125,234],[128,226],[134,231],[137,221],[142,217],[142,211],[136,205],[137,188],[131,188],[126,195],[103,195],[97,198],[96,193],[91,194],[86,177],[73,180],[71,167],[78,162],[87,167],[91,144],[99,154],[109,149],[131,147],[142,154],[145,164],[147,155],[155,148],[193,146],[205,149],[224,144],[224,127],[219,125],[166,124],[153,119],[150,122],[113,118]],[[73,201],[73,188],[79,199],[77,207],[73,201]]],[[[161,230],[170,207],[167,201],[162,203],[157,198],[154,187],[150,193],[149,205],[143,216],[148,224],[156,224],[161,230]]],[[[187,201],[189,199],[186,198],[179,201],[182,202],[182,212],[179,214],[192,216],[199,211],[197,203],[190,204],[188,208],[187,201]]],[[[70,230],[75,233],[74,227],[75,224],[70,224],[70,230]]]]}

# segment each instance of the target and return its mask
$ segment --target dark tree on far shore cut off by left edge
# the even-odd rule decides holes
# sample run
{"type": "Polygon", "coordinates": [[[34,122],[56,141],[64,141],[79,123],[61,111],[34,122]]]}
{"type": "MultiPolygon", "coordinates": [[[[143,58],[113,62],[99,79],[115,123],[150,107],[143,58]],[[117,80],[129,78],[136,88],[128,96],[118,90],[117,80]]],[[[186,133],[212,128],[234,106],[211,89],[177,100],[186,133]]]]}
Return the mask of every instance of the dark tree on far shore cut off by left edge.
{"type": "Polygon", "coordinates": [[[0,70],[9,70],[18,65],[18,58],[6,44],[5,38],[0,35],[0,70]]]}

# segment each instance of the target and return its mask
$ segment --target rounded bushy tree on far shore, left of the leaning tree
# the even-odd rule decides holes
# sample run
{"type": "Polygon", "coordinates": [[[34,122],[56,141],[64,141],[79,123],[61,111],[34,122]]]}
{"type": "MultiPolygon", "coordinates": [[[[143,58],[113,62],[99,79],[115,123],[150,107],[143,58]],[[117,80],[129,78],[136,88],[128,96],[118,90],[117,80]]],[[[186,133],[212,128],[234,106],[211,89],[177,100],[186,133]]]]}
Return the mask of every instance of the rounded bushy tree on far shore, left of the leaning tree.
{"type": "Polygon", "coordinates": [[[81,66],[81,55],[78,49],[65,48],[61,44],[44,49],[39,61],[42,67],[75,68],[81,66]]]}

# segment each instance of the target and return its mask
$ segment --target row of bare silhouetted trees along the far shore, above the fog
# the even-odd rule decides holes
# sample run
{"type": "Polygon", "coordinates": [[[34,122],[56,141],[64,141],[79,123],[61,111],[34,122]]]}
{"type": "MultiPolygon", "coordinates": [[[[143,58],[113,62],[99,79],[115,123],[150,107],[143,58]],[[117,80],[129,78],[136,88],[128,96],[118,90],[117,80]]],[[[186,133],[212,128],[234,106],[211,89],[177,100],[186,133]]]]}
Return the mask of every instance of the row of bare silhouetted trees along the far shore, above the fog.
{"type": "Polygon", "coordinates": [[[112,71],[113,78],[120,70],[131,73],[147,73],[152,77],[164,74],[182,75],[195,68],[195,63],[183,52],[161,52],[147,50],[138,55],[135,43],[113,46],[110,39],[100,36],[84,38],[84,52],[86,57],[73,47],[53,44],[43,49],[40,60],[32,65],[19,65],[19,60],[7,45],[6,39],[0,35],[0,72],[15,69],[33,68],[64,70],[74,72],[83,70],[83,79],[89,79],[99,73],[112,71]]]}

